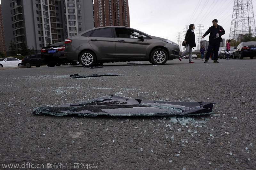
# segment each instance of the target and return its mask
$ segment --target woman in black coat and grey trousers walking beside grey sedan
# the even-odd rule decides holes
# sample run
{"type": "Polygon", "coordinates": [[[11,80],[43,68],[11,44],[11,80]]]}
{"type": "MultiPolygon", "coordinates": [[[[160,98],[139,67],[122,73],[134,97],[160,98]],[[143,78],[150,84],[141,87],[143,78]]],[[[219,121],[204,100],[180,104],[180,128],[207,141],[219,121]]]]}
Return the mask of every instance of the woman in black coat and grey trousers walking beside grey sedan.
{"type": "Polygon", "coordinates": [[[184,55],[188,53],[189,63],[194,63],[192,62],[192,48],[196,47],[194,29],[195,29],[195,25],[190,24],[184,40],[184,43],[186,44],[185,45],[186,50],[180,56],[180,58],[182,58],[184,55]]]}

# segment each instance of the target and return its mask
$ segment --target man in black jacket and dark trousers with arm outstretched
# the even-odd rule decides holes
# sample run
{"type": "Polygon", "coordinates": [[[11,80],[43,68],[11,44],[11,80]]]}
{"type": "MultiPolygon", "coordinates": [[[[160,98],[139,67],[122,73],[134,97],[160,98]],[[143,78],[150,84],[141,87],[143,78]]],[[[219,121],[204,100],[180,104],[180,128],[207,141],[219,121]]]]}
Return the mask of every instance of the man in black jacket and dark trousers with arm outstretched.
{"type": "Polygon", "coordinates": [[[220,49],[220,42],[222,42],[221,35],[225,34],[225,30],[222,28],[222,26],[218,25],[217,19],[213,19],[212,26],[205,32],[205,34],[203,35],[202,38],[204,38],[209,33],[210,33],[209,46],[207,48],[207,53],[205,55],[204,63],[208,62],[208,60],[211,56],[212,50],[214,51],[213,62],[218,63],[219,62],[218,61],[218,51],[220,49]]]}

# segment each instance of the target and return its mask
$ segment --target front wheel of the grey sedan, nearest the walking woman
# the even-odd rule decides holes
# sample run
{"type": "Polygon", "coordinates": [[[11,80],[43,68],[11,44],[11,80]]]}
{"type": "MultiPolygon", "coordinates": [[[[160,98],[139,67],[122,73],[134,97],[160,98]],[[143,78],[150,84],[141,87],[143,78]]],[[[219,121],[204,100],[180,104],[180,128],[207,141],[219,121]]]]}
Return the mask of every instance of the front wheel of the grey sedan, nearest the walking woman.
{"type": "Polygon", "coordinates": [[[162,65],[168,60],[168,54],[164,49],[157,48],[151,53],[150,59],[153,64],[162,65]]]}

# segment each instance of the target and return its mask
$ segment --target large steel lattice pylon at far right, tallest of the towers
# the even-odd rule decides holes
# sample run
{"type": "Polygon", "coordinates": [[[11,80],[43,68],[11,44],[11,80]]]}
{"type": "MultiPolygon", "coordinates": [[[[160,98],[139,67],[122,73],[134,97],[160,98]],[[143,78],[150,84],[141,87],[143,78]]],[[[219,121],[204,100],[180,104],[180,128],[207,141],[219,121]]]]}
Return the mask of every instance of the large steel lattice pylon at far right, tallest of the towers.
{"type": "Polygon", "coordinates": [[[256,36],[252,0],[235,0],[229,39],[241,40],[246,34],[256,36]]]}

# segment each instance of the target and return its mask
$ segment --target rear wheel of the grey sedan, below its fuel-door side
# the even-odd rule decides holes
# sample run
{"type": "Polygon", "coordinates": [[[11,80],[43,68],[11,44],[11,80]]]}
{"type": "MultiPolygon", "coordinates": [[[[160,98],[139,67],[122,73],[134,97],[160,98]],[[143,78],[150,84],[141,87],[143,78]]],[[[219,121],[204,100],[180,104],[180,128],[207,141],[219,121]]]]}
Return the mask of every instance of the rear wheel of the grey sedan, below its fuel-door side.
{"type": "Polygon", "coordinates": [[[94,66],[96,60],[96,55],[91,51],[84,51],[79,56],[79,61],[84,67],[94,66]]]}

